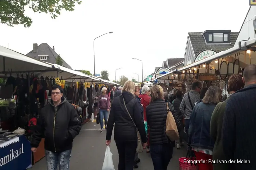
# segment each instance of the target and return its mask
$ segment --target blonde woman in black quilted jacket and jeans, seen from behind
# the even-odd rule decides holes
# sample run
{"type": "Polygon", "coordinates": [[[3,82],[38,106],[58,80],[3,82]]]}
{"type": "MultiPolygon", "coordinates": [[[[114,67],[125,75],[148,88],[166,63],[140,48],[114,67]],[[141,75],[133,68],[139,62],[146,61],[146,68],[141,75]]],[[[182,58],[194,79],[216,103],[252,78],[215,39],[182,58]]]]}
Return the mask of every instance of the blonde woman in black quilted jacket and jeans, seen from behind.
{"type": "MultiPolygon", "coordinates": [[[[170,111],[173,114],[177,128],[181,127],[179,118],[171,103],[170,111]]],[[[150,154],[154,169],[167,170],[168,164],[172,158],[175,141],[170,141],[165,133],[165,124],[167,118],[167,106],[163,99],[163,89],[159,85],[153,85],[151,88],[151,101],[146,108],[147,124],[150,127],[150,154]]]]}

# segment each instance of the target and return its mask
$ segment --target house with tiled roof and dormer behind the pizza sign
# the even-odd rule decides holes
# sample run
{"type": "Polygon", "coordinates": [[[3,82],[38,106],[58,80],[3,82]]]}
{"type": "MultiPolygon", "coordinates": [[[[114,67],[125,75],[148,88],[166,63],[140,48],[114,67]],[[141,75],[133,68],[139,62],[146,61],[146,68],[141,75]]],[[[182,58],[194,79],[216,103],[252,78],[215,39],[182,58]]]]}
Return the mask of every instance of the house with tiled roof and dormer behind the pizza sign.
{"type": "Polygon", "coordinates": [[[206,30],[188,33],[183,66],[232,48],[238,34],[238,32],[231,32],[231,30],[206,30]]]}

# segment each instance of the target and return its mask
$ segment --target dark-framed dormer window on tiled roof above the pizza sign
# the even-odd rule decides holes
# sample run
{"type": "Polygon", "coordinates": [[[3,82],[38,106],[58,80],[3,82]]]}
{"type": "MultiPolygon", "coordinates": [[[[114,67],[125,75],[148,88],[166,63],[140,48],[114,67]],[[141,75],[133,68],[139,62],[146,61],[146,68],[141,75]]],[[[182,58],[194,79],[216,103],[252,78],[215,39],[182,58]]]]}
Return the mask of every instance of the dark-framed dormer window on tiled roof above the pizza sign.
{"type": "Polygon", "coordinates": [[[207,43],[229,43],[230,30],[211,30],[204,32],[207,43]]]}

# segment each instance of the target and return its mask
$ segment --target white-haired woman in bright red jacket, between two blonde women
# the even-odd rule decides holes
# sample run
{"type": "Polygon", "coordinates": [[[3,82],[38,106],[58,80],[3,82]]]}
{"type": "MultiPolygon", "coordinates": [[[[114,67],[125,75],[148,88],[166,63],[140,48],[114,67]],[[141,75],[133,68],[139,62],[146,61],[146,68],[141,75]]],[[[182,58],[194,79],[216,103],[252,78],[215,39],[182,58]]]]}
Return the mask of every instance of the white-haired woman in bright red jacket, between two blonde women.
{"type": "MultiPolygon", "coordinates": [[[[143,116],[144,116],[144,121],[147,121],[147,117],[146,117],[146,107],[147,105],[150,104],[150,88],[148,86],[143,86],[141,89],[141,95],[139,96],[139,98],[141,98],[140,103],[143,105],[143,116]]],[[[146,152],[149,153],[149,131],[150,129],[147,129],[147,150],[146,152]]]]}

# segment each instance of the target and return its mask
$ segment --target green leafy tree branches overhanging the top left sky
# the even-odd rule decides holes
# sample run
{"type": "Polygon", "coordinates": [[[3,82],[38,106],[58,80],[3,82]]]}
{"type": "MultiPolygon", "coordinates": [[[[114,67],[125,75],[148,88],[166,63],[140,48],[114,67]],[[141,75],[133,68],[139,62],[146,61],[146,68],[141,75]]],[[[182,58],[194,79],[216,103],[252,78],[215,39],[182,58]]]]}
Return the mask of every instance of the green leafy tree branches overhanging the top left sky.
{"type": "Polygon", "coordinates": [[[34,12],[49,13],[53,19],[60,15],[62,9],[74,11],[75,4],[81,4],[81,0],[1,0],[0,23],[13,27],[23,24],[30,27],[32,19],[25,14],[28,8],[34,12]]]}

